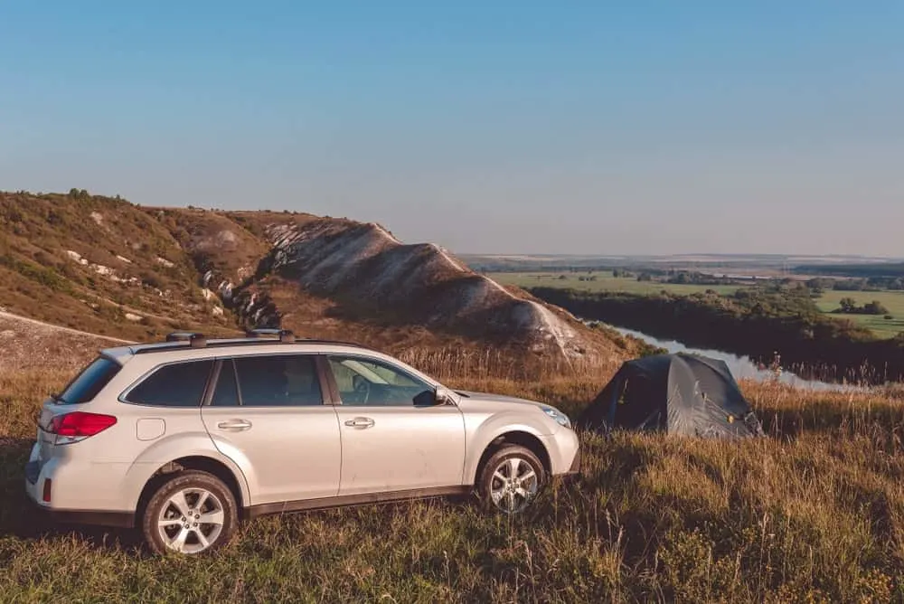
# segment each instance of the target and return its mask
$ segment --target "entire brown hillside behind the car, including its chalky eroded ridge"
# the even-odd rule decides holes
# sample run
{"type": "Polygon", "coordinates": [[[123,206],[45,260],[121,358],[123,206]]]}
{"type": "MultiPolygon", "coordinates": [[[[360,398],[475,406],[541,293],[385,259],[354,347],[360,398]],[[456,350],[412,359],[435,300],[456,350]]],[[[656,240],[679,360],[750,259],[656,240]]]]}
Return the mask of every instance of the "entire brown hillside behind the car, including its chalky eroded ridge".
{"type": "Polygon", "coordinates": [[[132,340],[284,326],[397,354],[505,351],[523,374],[640,350],[377,224],[139,207],[76,190],[0,193],[3,309],[132,340]]]}

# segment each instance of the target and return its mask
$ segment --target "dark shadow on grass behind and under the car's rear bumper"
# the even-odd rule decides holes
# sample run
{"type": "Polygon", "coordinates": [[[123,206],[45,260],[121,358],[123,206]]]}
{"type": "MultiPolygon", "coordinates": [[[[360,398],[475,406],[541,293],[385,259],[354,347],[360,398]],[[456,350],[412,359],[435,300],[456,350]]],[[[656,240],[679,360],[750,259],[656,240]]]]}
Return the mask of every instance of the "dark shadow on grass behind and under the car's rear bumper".
{"type": "Polygon", "coordinates": [[[0,538],[78,539],[90,547],[135,550],[138,532],[103,526],[60,524],[37,509],[25,495],[25,463],[33,445],[27,439],[0,439],[0,538]]]}

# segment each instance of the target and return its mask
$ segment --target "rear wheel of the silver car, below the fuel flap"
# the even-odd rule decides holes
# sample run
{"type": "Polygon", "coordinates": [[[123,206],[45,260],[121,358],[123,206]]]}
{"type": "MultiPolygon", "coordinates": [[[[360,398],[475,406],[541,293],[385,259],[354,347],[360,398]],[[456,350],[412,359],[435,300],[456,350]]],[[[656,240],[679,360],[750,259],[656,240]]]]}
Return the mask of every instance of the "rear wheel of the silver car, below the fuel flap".
{"type": "Polygon", "coordinates": [[[232,538],[239,514],[220,478],[186,470],[165,480],[145,506],[142,531],[155,553],[198,555],[220,549],[232,538]],[[207,521],[207,522],[205,522],[207,521]]]}

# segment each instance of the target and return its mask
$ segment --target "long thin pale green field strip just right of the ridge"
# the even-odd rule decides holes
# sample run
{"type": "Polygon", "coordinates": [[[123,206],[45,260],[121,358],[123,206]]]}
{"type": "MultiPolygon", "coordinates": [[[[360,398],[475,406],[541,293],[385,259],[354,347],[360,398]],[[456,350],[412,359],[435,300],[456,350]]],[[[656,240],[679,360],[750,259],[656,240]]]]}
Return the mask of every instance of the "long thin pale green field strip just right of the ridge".
{"type": "Polygon", "coordinates": [[[628,294],[655,294],[663,289],[675,294],[696,294],[713,289],[720,294],[732,294],[738,290],[737,285],[679,285],[673,283],[656,283],[654,281],[638,281],[636,277],[613,277],[611,271],[594,271],[593,273],[490,273],[489,278],[504,285],[516,285],[519,288],[572,288],[585,291],[621,291],[628,294]],[[564,278],[561,278],[564,277],[564,278]],[[581,281],[580,277],[596,277],[593,281],[581,281]]]}

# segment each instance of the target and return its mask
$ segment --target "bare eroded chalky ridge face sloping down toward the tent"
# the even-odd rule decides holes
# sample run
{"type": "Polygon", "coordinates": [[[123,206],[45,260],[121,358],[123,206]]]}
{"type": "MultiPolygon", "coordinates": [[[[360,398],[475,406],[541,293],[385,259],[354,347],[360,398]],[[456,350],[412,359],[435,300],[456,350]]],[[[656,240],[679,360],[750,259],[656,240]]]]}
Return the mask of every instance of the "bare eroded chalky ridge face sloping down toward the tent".
{"type": "MultiPolygon", "coordinates": [[[[350,316],[511,339],[565,357],[587,349],[575,321],[560,311],[478,275],[437,245],[406,245],[378,224],[271,225],[268,239],[271,274],[334,298],[350,316]]],[[[219,288],[224,297],[231,296],[229,285],[219,288]]],[[[240,306],[249,319],[273,321],[275,307],[259,294],[240,306]]]]}

